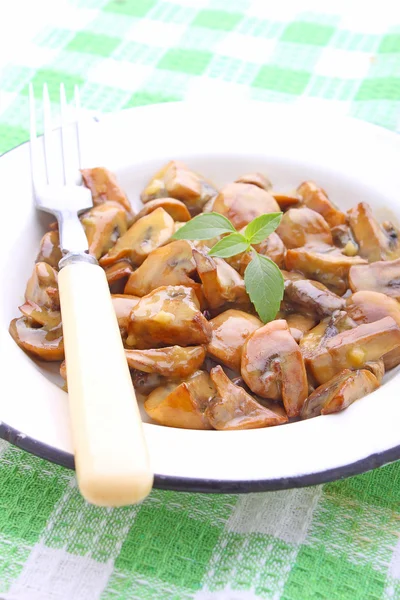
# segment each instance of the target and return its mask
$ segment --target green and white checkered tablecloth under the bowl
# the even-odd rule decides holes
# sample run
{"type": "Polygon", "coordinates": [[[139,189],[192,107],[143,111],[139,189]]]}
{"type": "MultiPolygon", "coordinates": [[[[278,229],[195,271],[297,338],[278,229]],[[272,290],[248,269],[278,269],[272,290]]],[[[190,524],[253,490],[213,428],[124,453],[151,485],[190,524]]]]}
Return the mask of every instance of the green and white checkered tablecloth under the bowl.
{"type": "MultiPolygon", "coordinates": [[[[225,94],[400,125],[393,1],[52,0],[40,20],[1,72],[0,151],[28,137],[30,81],[55,103],[60,82],[79,84],[88,111],[225,94]]],[[[400,598],[399,535],[398,463],[276,493],[154,490],[105,510],[72,472],[0,442],[6,600],[400,598]]]]}

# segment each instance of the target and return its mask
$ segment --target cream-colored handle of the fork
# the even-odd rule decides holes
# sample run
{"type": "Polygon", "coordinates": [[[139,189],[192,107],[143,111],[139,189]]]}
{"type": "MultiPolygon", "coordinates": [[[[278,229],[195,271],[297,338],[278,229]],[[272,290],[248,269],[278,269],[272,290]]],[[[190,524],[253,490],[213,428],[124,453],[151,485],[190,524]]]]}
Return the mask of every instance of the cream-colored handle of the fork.
{"type": "Polygon", "coordinates": [[[153,474],[105,273],[68,264],[58,283],[80,491],[98,506],[140,502],[153,474]]]}

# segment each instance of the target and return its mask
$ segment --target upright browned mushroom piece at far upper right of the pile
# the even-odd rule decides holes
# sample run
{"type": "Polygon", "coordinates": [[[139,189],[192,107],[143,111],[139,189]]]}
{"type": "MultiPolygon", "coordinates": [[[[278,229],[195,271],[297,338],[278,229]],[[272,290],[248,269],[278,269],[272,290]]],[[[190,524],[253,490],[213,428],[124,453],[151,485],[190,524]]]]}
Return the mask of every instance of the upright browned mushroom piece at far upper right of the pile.
{"type": "MultiPolygon", "coordinates": [[[[368,262],[389,258],[389,237],[381,228],[366,202],[360,202],[349,211],[350,227],[359,246],[359,254],[368,262]]],[[[392,258],[398,258],[392,256],[392,258]]]]}

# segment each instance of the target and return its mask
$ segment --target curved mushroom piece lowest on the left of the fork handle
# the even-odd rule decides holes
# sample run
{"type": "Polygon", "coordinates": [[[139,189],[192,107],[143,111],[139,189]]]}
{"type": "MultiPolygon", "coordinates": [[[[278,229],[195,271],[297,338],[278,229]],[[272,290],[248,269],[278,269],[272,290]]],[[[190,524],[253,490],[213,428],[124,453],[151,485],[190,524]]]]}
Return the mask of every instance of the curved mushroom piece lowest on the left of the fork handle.
{"type": "Polygon", "coordinates": [[[62,327],[47,330],[45,327],[31,327],[25,317],[13,319],[10,323],[10,334],[20,348],[36,358],[46,361],[64,359],[64,342],[62,327]]]}

